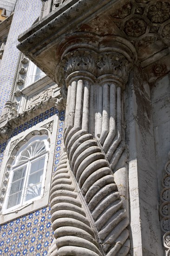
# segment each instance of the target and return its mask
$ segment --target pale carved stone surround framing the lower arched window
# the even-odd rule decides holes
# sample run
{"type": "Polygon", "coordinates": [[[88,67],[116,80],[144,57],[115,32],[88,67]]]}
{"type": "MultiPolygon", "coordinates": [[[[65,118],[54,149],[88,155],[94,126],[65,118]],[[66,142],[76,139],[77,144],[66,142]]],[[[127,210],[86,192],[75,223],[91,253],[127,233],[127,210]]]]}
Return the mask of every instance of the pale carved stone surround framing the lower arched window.
{"type": "Polygon", "coordinates": [[[10,179],[12,179],[12,177],[10,177],[11,174],[7,177],[6,173],[7,173],[7,162],[11,158],[11,154],[13,152],[12,151],[11,154],[9,155],[10,146],[15,140],[19,140],[15,145],[16,147],[20,143],[20,141],[23,141],[29,134],[32,134],[32,133],[37,134],[38,132],[41,132],[43,129],[43,130],[46,130],[46,132],[48,133],[48,140],[50,141],[50,150],[49,150],[49,157],[48,157],[46,175],[45,175],[45,195],[34,201],[31,200],[31,202],[26,203],[23,206],[17,206],[16,209],[11,210],[10,208],[9,210],[6,211],[5,210],[6,193],[5,193],[4,200],[0,201],[0,203],[2,203],[2,210],[0,211],[0,224],[4,224],[8,221],[19,218],[20,216],[24,216],[38,209],[42,209],[44,207],[49,206],[49,195],[50,195],[50,187],[51,187],[51,180],[52,180],[52,169],[53,169],[53,161],[54,161],[54,155],[55,155],[55,146],[56,146],[56,139],[57,139],[58,121],[59,121],[58,115],[57,114],[53,115],[50,118],[44,120],[43,122],[38,123],[32,128],[29,128],[26,131],[21,132],[20,134],[14,136],[13,138],[7,141],[7,148],[4,151],[4,157],[3,157],[1,170],[0,170],[1,191],[4,187],[8,186],[10,179]],[[52,132],[50,132],[47,128],[44,128],[44,126],[46,126],[51,121],[53,121],[52,132]],[[8,180],[7,184],[4,183],[5,180],[8,180]]]}

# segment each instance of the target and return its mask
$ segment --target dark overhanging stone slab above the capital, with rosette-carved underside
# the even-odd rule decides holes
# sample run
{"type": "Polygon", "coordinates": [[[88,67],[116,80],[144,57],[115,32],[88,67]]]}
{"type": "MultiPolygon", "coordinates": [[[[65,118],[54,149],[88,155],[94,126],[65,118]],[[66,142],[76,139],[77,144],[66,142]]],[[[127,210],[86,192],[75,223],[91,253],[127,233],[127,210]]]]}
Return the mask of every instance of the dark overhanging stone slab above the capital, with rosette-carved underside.
{"type": "Polygon", "coordinates": [[[169,3],[158,3],[155,0],[66,1],[22,34],[18,48],[55,80],[56,47],[61,40],[67,40],[71,34],[78,32],[98,34],[99,37],[118,35],[134,45],[138,61],[148,74],[149,82],[152,82],[170,70],[169,3]],[[150,14],[152,8],[154,12],[150,14]],[[167,18],[163,18],[163,10],[167,18]],[[155,71],[156,55],[160,56],[158,64],[161,72],[155,71]],[[46,56],[50,61],[45,61],[46,56]]]}

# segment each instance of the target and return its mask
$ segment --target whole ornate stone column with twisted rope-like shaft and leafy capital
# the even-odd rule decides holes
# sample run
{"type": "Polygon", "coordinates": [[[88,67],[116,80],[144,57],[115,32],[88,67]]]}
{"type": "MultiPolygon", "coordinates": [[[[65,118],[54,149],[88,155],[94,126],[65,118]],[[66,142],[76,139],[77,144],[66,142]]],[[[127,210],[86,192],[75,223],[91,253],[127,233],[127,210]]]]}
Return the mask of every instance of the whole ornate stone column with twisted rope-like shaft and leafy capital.
{"type": "Polygon", "coordinates": [[[76,40],[61,42],[57,54],[56,79],[68,91],[66,152],[51,189],[57,246],[51,255],[126,256],[130,239],[122,94],[136,52],[121,37],[77,34],[76,40]]]}

